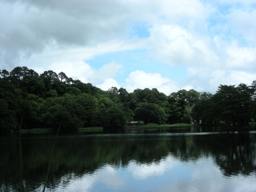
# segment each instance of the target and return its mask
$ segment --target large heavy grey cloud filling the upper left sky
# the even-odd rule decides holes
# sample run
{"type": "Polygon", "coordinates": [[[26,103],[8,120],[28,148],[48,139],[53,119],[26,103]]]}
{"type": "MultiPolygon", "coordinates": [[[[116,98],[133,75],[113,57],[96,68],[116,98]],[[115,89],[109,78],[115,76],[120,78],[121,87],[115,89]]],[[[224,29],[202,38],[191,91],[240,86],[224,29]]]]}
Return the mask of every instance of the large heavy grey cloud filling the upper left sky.
{"type": "MultiPolygon", "coordinates": [[[[122,42],[121,37],[129,36],[127,20],[131,10],[119,1],[0,3],[0,16],[4,18],[0,22],[0,49],[3,50],[0,59],[5,67],[40,54],[47,46],[55,45],[57,50],[72,51],[111,42],[108,46],[111,51],[115,46],[113,40],[122,42]]],[[[83,55],[86,58],[86,52],[83,55]]]]}

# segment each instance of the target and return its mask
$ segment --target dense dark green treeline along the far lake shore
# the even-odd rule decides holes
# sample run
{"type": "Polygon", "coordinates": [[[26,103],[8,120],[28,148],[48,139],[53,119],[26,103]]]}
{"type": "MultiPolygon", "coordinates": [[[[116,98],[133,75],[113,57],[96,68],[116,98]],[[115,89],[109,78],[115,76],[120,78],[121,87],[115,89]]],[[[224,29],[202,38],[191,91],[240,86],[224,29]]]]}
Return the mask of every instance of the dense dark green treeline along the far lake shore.
{"type": "Polygon", "coordinates": [[[145,124],[248,124],[256,118],[256,81],[220,85],[212,95],[180,90],[165,95],[156,88],[100,90],[90,83],[28,67],[0,70],[0,130],[78,127],[122,128],[132,120],[145,124]]]}

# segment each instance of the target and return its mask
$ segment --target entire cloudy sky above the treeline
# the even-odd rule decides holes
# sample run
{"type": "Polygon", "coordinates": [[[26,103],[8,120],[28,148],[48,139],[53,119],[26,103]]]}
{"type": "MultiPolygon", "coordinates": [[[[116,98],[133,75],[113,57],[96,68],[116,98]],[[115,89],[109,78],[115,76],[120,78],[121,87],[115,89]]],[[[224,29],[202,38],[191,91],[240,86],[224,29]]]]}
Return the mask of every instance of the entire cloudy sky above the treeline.
{"type": "Polygon", "coordinates": [[[170,95],[256,80],[256,0],[0,0],[0,69],[170,95]]]}

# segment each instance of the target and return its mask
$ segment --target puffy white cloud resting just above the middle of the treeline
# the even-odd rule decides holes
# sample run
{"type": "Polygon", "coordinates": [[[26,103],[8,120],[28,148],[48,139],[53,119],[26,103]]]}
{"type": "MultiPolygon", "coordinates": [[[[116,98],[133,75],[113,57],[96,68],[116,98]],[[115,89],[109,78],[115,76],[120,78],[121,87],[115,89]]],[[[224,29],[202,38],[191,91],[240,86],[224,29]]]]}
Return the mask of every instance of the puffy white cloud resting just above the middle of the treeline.
{"type": "Polygon", "coordinates": [[[179,90],[176,83],[170,81],[168,78],[161,77],[161,74],[147,74],[140,70],[136,70],[129,74],[127,79],[125,79],[124,87],[128,92],[133,92],[137,88],[157,88],[157,90],[166,95],[179,90]]]}

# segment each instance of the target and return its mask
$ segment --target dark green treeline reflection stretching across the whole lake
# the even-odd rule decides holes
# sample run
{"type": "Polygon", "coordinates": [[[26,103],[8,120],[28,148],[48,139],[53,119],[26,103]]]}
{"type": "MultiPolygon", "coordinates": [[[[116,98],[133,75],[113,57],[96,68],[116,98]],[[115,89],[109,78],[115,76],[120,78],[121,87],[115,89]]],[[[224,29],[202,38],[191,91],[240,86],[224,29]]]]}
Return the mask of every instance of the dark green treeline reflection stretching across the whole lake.
{"type": "MultiPolygon", "coordinates": [[[[256,171],[255,138],[255,134],[58,138],[47,187],[65,186],[70,180],[92,174],[105,164],[119,168],[126,167],[131,161],[159,163],[168,155],[184,162],[212,157],[224,175],[248,175],[256,171]]],[[[31,189],[39,188],[45,179],[51,141],[48,138],[23,140],[24,178],[31,189]]],[[[0,180],[6,187],[14,186],[19,191],[19,163],[15,159],[17,143],[13,143],[7,148],[0,146],[3,154],[0,180]]]]}

